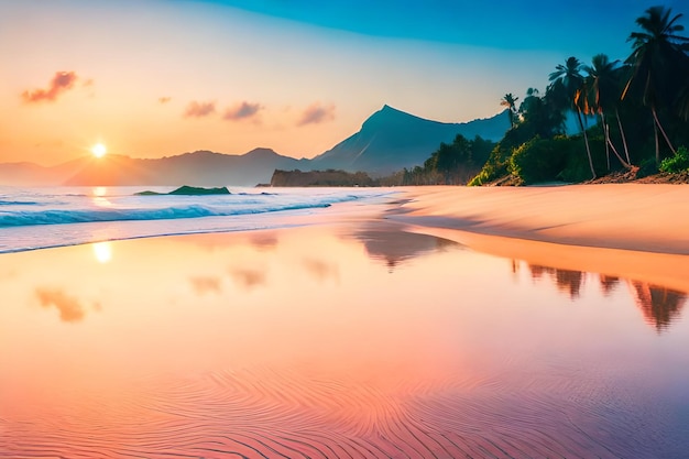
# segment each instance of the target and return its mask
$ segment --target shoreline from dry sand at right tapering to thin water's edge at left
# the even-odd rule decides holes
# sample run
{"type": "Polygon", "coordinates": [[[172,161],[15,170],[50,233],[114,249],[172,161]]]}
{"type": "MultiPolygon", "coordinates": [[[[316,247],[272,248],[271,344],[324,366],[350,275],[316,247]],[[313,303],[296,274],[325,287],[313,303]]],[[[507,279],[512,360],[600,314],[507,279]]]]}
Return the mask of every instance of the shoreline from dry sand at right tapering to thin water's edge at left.
{"type": "MultiPolygon", "coordinates": [[[[606,249],[636,253],[689,255],[689,187],[664,184],[595,184],[538,187],[413,186],[389,188],[385,199],[338,203],[327,209],[284,215],[258,215],[271,225],[259,228],[387,221],[414,231],[453,234],[479,251],[492,245],[558,244],[577,249],[606,249]],[[485,238],[495,238],[495,243],[485,238]],[[501,241],[501,242],[497,242],[501,241]]],[[[185,220],[181,220],[185,221],[185,220]]],[[[264,222],[265,223],[265,222],[264,222]]],[[[251,228],[196,232],[245,232],[251,228]]],[[[179,234],[185,233],[181,232],[179,234]]],[[[116,241],[171,237],[176,232],[106,238],[116,241]]],[[[91,243],[77,242],[66,245],[91,243]]],[[[63,245],[32,248],[31,251],[63,245]]],[[[17,253],[25,250],[10,250],[17,253]]]]}

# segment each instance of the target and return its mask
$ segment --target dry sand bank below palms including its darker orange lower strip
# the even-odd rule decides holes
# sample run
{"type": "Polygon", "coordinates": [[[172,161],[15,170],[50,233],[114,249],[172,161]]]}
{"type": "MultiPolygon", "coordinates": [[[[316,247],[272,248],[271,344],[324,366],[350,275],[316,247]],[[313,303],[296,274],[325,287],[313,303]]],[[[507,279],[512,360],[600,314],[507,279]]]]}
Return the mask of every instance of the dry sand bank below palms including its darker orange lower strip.
{"type": "Polygon", "coordinates": [[[689,292],[689,186],[409,187],[390,219],[472,249],[689,292]]]}

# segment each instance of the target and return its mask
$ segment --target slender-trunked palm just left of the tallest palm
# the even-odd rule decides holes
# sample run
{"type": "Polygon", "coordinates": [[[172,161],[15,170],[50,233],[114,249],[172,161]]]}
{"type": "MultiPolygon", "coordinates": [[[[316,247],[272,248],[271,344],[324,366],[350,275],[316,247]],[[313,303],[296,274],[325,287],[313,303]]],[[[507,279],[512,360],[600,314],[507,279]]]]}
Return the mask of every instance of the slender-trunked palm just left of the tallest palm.
{"type": "Polygon", "coordinates": [[[617,85],[616,65],[619,61],[610,62],[610,58],[605,54],[597,54],[591,61],[591,66],[584,65],[582,68],[588,74],[587,83],[589,88],[589,96],[591,100],[589,106],[591,112],[598,113],[601,118],[601,127],[603,128],[603,134],[605,138],[605,156],[608,157],[608,170],[610,170],[610,150],[617,156],[624,167],[631,167],[630,152],[626,147],[626,140],[624,139],[624,130],[622,129],[622,122],[620,121],[620,113],[617,111],[616,101],[620,99],[620,91],[617,85]],[[617,122],[620,124],[620,133],[622,135],[624,152],[626,154],[626,162],[617,153],[617,149],[610,140],[610,124],[605,112],[614,108],[617,122]]]}

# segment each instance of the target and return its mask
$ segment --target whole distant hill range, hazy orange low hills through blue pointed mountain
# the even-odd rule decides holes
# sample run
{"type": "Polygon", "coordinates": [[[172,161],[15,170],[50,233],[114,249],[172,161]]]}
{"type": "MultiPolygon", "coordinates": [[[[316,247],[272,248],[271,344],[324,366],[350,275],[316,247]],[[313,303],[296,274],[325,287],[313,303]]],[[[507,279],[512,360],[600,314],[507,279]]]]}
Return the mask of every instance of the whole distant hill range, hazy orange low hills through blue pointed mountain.
{"type": "Polygon", "coordinates": [[[384,106],[364,121],[359,132],[313,160],[295,160],[270,149],[240,155],[197,151],[155,160],[109,154],[53,167],[0,164],[0,185],[255,186],[270,183],[275,170],[343,170],[383,175],[422,165],[440,142],[450,143],[458,133],[468,139],[481,135],[496,141],[507,128],[504,112],[468,123],[442,123],[384,106]]]}

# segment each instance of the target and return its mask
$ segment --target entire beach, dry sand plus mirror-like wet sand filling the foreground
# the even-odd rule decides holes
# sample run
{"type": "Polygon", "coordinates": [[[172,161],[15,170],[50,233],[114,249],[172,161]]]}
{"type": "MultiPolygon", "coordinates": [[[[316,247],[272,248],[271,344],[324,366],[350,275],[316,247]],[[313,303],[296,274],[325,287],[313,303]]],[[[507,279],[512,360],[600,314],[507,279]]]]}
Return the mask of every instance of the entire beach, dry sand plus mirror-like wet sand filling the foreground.
{"type": "Polygon", "coordinates": [[[689,188],[390,192],[0,254],[0,458],[682,457],[689,188]]]}

